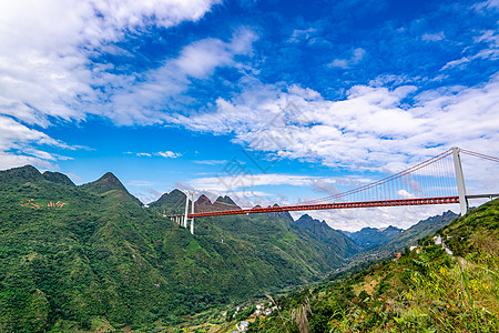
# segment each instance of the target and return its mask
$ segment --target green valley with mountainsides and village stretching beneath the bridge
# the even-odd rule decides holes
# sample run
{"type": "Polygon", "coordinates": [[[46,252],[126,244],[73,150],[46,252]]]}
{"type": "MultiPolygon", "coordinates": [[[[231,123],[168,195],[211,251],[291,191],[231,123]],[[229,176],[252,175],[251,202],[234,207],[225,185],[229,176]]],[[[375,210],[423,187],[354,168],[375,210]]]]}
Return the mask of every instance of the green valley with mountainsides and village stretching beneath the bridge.
{"type": "MultiPolygon", "coordinates": [[[[77,186],[29,165],[0,171],[0,183],[1,332],[228,332],[247,319],[251,330],[279,332],[276,313],[336,293],[340,281],[374,274],[352,287],[371,295],[393,278],[363,269],[387,270],[379,262],[397,252],[407,261],[405,248],[457,218],[353,236],[275,212],[201,218],[192,235],[162,216],[185,201],[179,190],[144,206],[110,172],[77,186]]],[[[235,203],[204,195],[194,203],[197,211],[226,204],[235,203]]]]}

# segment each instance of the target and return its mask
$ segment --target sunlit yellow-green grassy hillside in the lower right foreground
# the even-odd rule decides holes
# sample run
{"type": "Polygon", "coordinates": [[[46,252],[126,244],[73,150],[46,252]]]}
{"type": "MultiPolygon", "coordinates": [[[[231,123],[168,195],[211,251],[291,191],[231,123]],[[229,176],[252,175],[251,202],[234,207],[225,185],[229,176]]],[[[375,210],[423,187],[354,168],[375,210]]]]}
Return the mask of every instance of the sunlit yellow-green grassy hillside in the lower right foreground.
{"type": "Polygon", "coordinates": [[[247,332],[498,332],[499,201],[438,235],[397,261],[278,297],[279,312],[247,332]]]}

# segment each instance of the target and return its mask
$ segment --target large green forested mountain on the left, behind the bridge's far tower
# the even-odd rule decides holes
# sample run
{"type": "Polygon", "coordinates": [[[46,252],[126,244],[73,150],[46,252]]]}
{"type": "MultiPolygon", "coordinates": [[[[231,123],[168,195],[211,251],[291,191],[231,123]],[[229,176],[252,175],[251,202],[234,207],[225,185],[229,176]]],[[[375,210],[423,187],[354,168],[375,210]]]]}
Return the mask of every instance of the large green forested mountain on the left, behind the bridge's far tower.
{"type": "Polygon", "coordinates": [[[112,173],[75,186],[0,171],[0,332],[170,325],[343,262],[288,213],[196,219],[192,235],[161,215],[179,200],[182,212],[176,190],[143,208],[112,173]]]}

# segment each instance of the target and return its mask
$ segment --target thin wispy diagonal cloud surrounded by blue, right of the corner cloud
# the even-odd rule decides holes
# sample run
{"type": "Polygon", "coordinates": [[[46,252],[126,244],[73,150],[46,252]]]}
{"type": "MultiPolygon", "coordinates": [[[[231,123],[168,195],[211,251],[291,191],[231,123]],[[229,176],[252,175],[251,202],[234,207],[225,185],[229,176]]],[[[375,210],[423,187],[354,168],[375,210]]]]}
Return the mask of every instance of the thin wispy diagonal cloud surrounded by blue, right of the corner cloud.
{"type": "Polygon", "coordinates": [[[124,82],[124,89],[108,88],[112,107],[104,115],[125,125],[167,121],[169,111],[193,102],[193,98],[183,94],[192,79],[205,79],[218,67],[235,65],[234,57],[249,52],[255,39],[253,31],[240,29],[230,42],[208,38],[184,47],[176,59],[142,74],[138,82],[124,82]]]}

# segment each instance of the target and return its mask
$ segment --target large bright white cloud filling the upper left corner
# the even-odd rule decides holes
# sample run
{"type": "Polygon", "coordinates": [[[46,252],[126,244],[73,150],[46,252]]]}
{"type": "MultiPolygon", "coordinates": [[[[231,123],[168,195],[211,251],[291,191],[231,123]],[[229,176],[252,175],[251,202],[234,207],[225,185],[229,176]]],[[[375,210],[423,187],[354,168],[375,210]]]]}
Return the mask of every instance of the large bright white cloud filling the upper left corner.
{"type": "MultiPolygon", "coordinates": [[[[113,46],[125,31],[141,31],[147,26],[169,28],[182,21],[196,21],[220,0],[147,0],[147,1],[0,1],[0,135],[3,168],[18,163],[43,163],[63,157],[44,151],[30,151],[33,158],[16,157],[22,152],[9,149],[47,143],[65,149],[62,142],[31,130],[47,128],[52,119],[83,120],[88,113],[112,118],[94,87],[126,87],[133,80],[116,77],[109,65],[91,65],[90,58],[101,52],[125,52],[113,46]],[[23,133],[23,135],[21,135],[23,133]],[[40,140],[33,139],[39,138],[40,140]]],[[[234,43],[234,49],[238,42],[234,43]]],[[[26,151],[24,151],[26,153],[26,151]]]]}

